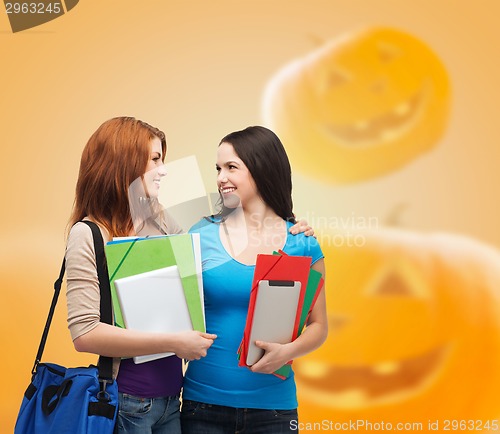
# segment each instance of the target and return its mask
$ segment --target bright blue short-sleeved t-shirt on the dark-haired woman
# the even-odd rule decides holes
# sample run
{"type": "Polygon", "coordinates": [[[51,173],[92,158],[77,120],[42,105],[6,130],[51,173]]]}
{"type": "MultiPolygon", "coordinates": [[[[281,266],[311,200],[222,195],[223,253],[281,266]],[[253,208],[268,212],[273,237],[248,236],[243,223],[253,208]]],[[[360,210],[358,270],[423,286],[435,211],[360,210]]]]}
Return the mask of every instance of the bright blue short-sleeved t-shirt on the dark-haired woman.
{"type": "MultiPolygon", "coordinates": [[[[287,223],[290,228],[291,223],[287,223]]],[[[255,265],[234,260],[219,237],[220,224],[202,220],[190,232],[199,233],[203,264],[205,318],[208,333],[217,339],[207,356],[189,362],[183,398],[237,408],[291,410],[297,408],[293,372],[282,380],[238,366],[237,351],[243,337],[255,265]]],[[[287,234],[283,251],[323,257],[314,237],[287,234]]]]}

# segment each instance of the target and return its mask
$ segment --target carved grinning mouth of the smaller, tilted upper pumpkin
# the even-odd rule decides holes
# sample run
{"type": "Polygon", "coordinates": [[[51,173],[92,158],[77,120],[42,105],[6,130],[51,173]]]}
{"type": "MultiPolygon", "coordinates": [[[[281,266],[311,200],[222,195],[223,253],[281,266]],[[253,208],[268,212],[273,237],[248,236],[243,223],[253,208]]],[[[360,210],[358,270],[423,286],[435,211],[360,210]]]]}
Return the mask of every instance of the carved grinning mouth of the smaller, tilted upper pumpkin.
{"type": "Polygon", "coordinates": [[[349,124],[327,124],[323,130],[336,143],[348,147],[367,147],[392,142],[405,135],[420,119],[424,106],[424,91],[395,105],[389,112],[359,119],[349,124]]]}

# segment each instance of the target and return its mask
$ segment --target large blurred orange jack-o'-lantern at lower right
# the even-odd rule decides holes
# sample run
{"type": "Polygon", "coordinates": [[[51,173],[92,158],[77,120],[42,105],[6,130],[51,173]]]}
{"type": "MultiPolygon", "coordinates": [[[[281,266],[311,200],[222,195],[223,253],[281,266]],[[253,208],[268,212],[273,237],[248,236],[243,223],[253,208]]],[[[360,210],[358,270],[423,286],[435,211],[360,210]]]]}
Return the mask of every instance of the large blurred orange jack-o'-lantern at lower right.
{"type": "Polygon", "coordinates": [[[364,236],[322,243],[329,337],[294,362],[301,419],[497,419],[499,252],[455,236],[364,236]]]}

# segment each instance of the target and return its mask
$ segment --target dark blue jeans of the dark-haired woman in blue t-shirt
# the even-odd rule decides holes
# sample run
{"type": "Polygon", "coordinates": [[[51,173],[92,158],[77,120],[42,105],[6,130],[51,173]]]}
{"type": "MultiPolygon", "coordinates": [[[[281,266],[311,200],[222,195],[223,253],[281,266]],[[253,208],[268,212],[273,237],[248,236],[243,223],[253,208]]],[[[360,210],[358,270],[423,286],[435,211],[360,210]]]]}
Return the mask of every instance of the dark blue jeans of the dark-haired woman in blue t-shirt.
{"type": "Polygon", "coordinates": [[[233,408],[183,400],[182,434],[282,434],[297,433],[297,409],[260,410],[233,408]]]}

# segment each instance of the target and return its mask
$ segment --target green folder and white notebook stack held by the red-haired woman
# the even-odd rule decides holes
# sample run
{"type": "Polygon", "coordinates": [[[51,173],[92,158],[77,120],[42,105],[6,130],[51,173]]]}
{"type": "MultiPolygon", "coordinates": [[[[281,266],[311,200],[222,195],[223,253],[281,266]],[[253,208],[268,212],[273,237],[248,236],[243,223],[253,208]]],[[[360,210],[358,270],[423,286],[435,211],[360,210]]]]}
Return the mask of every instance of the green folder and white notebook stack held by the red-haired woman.
{"type": "MultiPolygon", "coordinates": [[[[105,246],[115,325],[205,331],[199,234],[114,239],[105,246]]],[[[173,353],[134,357],[143,363],[173,353]]]]}

